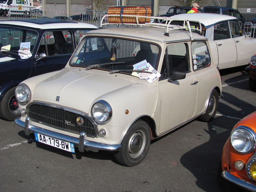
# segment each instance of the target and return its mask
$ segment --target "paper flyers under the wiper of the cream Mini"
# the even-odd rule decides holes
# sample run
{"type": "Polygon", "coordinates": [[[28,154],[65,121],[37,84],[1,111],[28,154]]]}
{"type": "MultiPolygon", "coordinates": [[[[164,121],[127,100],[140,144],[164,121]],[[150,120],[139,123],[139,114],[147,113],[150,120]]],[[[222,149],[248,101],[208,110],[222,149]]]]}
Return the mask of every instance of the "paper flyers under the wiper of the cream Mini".
{"type": "Polygon", "coordinates": [[[152,73],[143,73],[143,72],[133,72],[132,76],[137,76],[140,79],[146,79],[149,83],[152,83],[155,81],[157,78],[161,76],[160,73],[154,69],[150,63],[147,62],[147,60],[143,60],[139,63],[136,63],[133,65],[134,70],[141,70],[141,71],[148,71],[152,73]]]}

